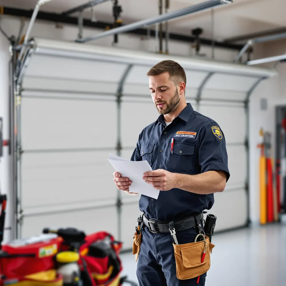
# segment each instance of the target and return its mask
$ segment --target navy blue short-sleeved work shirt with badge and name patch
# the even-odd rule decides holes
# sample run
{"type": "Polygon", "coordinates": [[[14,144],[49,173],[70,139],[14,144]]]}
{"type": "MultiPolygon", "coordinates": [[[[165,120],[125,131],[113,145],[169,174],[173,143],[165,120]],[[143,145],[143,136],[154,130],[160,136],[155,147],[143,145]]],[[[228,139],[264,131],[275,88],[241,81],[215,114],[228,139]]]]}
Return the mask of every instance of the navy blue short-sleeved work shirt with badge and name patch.
{"type": "MultiPolygon", "coordinates": [[[[131,161],[139,160],[147,160],[152,170],[189,175],[222,170],[227,180],[230,176],[223,131],[214,120],[194,111],[190,103],[168,126],[160,115],[142,130],[131,157],[131,161]]],[[[213,193],[195,194],[173,188],[160,191],[157,200],[141,195],[139,209],[148,219],[170,221],[209,210],[213,203],[213,193]]]]}

